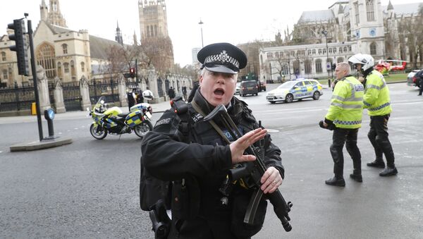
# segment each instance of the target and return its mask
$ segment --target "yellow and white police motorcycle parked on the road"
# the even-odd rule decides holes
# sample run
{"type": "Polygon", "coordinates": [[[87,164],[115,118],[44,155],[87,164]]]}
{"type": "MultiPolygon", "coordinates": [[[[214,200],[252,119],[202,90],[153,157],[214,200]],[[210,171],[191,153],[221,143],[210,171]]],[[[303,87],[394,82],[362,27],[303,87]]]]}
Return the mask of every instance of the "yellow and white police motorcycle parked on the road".
{"type": "MultiPolygon", "coordinates": [[[[152,99],[152,92],[147,91],[142,92],[143,97],[152,99]]],[[[107,134],[123,135],[134,131],[135,135],[142,138],[146,133],[153,130],[151,122],[153,111],[152,106],[148,103],[135,104],[130,108],[129,113],[123,114],[117,106],[109,108],[109,104],[106,104],[104,99],[105,97],[100,97],[91,110],[87,108],[89,116],[94,121],[90,126],[92,137],[102,140],[107,134]]]]}

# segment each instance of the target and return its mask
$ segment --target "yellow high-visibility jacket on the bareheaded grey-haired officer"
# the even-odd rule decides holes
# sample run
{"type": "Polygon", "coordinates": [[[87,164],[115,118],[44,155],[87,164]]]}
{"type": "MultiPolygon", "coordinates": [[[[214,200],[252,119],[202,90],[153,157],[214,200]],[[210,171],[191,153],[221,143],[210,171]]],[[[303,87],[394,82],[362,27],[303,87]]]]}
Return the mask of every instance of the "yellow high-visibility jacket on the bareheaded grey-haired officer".
{"type": "Polygon", "coordinates": [[[336,83],[331,106],[325,118],[333,121],[336,128],[360,128],[363,113],[364,86],[348,75],[336,83]]]}

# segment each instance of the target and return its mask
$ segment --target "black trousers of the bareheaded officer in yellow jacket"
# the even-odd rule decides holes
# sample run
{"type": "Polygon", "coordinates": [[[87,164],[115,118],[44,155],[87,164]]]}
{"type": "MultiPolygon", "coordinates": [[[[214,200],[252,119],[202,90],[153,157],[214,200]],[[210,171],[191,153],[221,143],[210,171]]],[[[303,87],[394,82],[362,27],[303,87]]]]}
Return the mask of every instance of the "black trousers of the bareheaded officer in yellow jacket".
{"type": "Polygon", "coordinates": [[[331,154],[333,159],[333,173],[336,178],[343,177],[343,145],[346,143],[348,154],[353,159],[354,170],[361,173],[361,154],[357,147],[358,128],[336,128],[333,130],[331,154]]]}

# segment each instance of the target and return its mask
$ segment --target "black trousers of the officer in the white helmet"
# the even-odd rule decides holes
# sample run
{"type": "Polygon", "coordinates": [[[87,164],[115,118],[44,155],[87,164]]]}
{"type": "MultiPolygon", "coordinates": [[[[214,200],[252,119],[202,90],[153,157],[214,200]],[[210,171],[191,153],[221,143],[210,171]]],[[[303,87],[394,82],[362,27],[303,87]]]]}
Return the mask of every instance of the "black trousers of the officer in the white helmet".
{"type": "Polygon", "coordinates": [[[388,139],[388,120],[390,114],[384,116],[370,116],[370,130],[367,134],[374,147],[376,160],[383,160],[385,154],[386,164],[390,167],[395,166],[395,156],[391,142],[388,139]]]}

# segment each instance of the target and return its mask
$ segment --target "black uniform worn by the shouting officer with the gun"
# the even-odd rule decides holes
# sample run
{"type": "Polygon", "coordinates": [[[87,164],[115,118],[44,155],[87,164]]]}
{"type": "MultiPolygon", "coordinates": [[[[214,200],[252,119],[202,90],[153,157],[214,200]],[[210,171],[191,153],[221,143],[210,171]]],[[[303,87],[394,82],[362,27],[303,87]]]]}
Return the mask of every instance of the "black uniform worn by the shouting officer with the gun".
{"type": "MultiPolygon", "coordinates": [[[[196,91],[193,100],[204,114],[214,109],[200,90],[196,91]]],[[[157,121],[154,130],[145,135],[141,146],[142,164],[147,171],[161,180],[173,181],[173,223],[168,238],[249,238],[262,227],[266,201],[262,200],[257,212],[258,226],[244,228],[243,217],[251,191],[237,184],[226,198],[227,203],[219,192],[228,169],[233,166],[231,149],[212,125],[203,121],[192,104],[188,104],[187,114],[186,135],[181,128],[181,117],[168,110],[157,121]],[[186,195],[183,195],[184,190],[188,191],[186,195]],[[234,209],[234,205],[244,208],[234,209]]],[[[258,128],[247,104],[235,97],[228,106],[228,114],[243,133],[258,128]]],[[[215,123],[223,128],[219,120],[215,123]]],[[[265,137],[264,147],[264,164],[277,168],[283,178],[281,151],[271,143],[269,135],[265,137]]]]}

